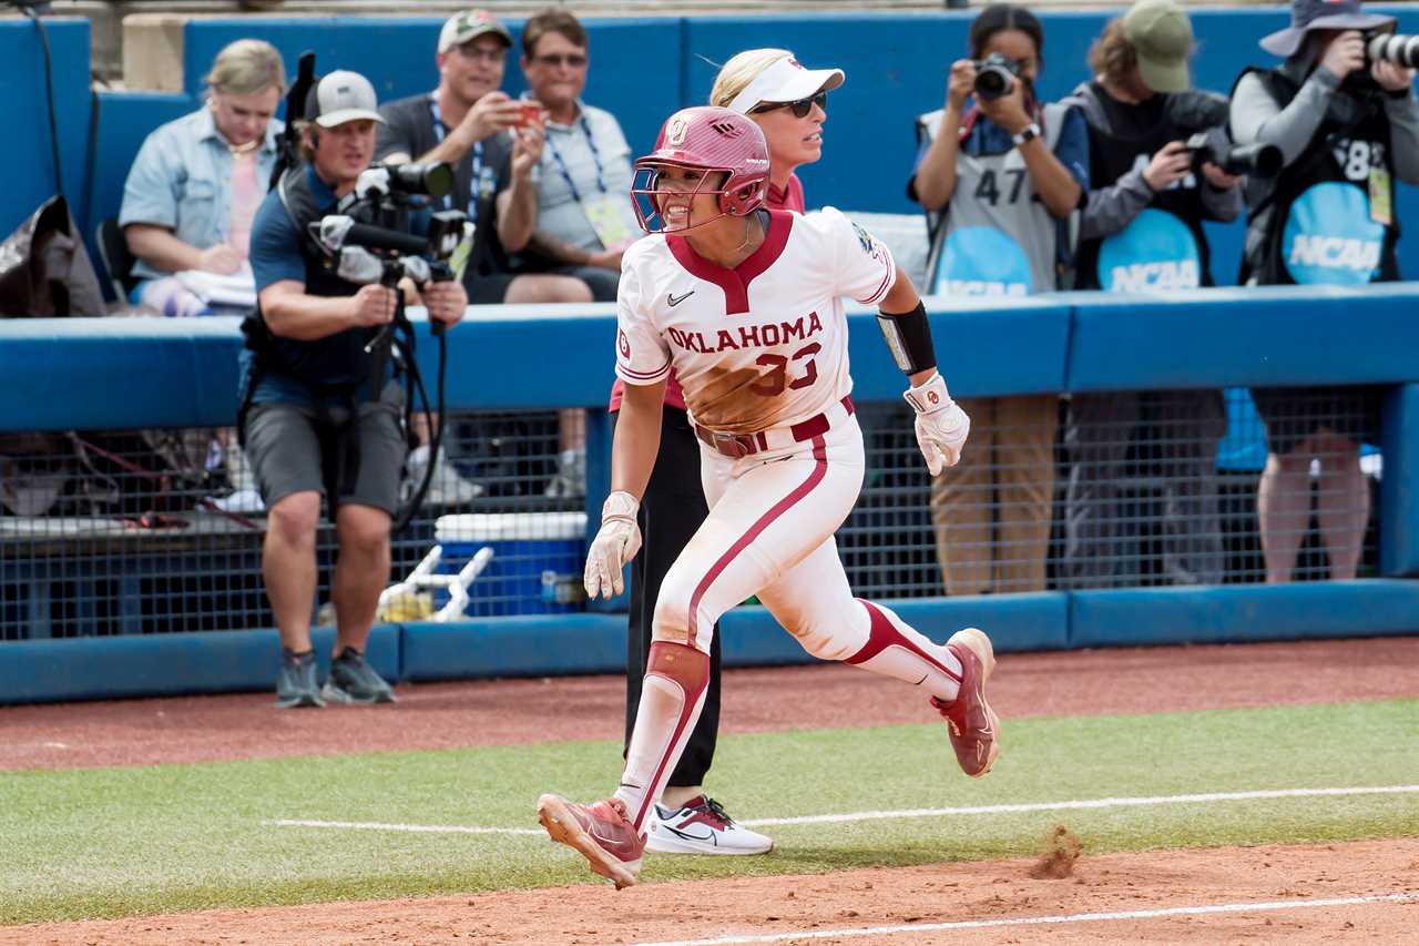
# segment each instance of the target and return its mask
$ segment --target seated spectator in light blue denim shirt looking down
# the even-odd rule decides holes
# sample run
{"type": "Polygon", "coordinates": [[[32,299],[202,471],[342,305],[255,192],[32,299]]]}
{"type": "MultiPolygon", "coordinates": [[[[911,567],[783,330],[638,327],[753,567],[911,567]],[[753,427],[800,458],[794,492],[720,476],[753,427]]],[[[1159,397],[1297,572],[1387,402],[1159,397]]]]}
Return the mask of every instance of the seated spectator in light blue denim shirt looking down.
{"type": "Polygon", "coordinates": [[[129,301],[163,315],[214,311],[175,273],[247,270],[251,219],[275,166],[281,54],[264,40],[237,40],[217,54],[207,87],[201,108],[143,142],[118,214],[140,277],[129,301]]]}

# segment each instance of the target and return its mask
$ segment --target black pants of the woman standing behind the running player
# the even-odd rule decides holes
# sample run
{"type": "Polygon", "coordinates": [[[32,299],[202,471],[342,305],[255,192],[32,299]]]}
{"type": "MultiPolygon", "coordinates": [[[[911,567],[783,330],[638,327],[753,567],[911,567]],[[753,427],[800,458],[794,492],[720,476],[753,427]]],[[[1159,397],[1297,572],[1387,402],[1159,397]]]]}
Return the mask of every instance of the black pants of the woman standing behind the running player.
{"type": "MultiPolygon", "coordinates": [[[[700,440],[690,428],[688,415],[666,405],[660,428],[660,453],[650,473],[650,484],[640,501],[636,521],[640,526],[640,554],[630,562],[630,621],[626,634],[626,744],[636,727],[640,709],[640,685],[646,679],[650,656],[651,618],[656,598],[670,565],[685,550],[690,538],[710,514],[704,487],[700,484],[700,440]]],[[[704,712],[685,744],[680,764],[667,784],[675,787],[704,784],[714,761],[719,736],[719,625],[710,643],[710,686],[704,712]]]]}

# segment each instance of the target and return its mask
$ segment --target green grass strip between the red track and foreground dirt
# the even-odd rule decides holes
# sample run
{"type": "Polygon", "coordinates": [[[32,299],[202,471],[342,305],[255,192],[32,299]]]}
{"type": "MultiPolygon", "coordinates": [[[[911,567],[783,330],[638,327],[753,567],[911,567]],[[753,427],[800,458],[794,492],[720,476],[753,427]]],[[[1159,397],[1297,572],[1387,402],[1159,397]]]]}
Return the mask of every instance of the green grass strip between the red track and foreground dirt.
{"type": "MultiPolygon", "coordinates": [[[[1007,722],[982,781],[941,726],[724,737],[714,788],[755,818],[1252,790],[1419,784],[1419,700],[1007,722]]],[[[0,923],[599,882],[535,830],[542,791],[603,797],[609,741],[0,773],[0,923]]],[[[1086,852],[1419,835],[1419,793],[771,825],[762,858],[651,857],[644,882],[1086,852]]]]}

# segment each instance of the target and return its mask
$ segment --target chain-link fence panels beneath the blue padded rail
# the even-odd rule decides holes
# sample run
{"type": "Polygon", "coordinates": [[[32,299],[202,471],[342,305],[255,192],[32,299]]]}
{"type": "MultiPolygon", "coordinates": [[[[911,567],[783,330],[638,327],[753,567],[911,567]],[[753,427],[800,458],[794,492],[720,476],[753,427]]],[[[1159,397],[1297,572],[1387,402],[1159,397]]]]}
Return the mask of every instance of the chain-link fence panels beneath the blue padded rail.
{"type": "MultiPolygon", "coordinates": [[[[966,459],[935,486],[910,411],[860,405],[868,473],[839,533],[857,594],[1374,574],[1379,457],[1366,449],[1357,462],[1344,439],[1378,439],[1359,389],[1261,392],[1270,446],[1286,457],[1264,477],[1267,426],[1246,391],[1022,401],[968,402],[966,459]]],[[[450,413],[443,453],[412,455],[406,490],[427,463],[434,476],[394,538],[392,581],[436,544],[444,555],[429,567],[446,574],[488,547],[464,572],[464,616],[579,609],[583,436],[579,412],[450,413]]],[[[264,510],[227,430],[7,435],[0,509],[0,641],[272,626],[264,510]]],[[[325,624],[333,558],[322,526],[325,624]]],[[[427,618],[448,601],[410,588],[382,616],[427,618]]]]}

